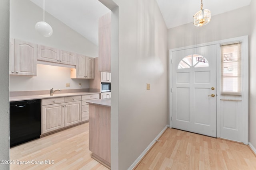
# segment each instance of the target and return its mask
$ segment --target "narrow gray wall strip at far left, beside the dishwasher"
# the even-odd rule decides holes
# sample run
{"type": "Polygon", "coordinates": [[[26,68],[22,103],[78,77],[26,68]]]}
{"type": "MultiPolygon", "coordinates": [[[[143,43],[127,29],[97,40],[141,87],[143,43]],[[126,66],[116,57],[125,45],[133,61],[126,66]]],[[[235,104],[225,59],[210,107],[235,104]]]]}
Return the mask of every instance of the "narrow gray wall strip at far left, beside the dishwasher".
{"type": "MultiPolygon", "coordinates": [[[[9,0],[0,5],[0,160],[9,160],[9,0]]],[[[8,164],[0,164],[8,170],[8,164]]]]}

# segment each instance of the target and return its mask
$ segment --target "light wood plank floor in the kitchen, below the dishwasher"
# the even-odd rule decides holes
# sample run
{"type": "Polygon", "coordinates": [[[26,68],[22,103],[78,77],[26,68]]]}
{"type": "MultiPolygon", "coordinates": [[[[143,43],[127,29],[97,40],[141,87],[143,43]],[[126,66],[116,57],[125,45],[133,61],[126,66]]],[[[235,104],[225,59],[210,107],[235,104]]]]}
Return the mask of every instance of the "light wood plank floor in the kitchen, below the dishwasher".
{"type": "MultiPolygon", "coordinates": [[[[90,157],[88,123],[12,147],[10,170],[108,170],[90,157]],[[16,164],[16,161],[30,164],[16,164]],[[31,164],[32,161],[53,160],[54,164],[31,164]]],[[[44,162],[45,163],[45,162],[44,162]]]]}

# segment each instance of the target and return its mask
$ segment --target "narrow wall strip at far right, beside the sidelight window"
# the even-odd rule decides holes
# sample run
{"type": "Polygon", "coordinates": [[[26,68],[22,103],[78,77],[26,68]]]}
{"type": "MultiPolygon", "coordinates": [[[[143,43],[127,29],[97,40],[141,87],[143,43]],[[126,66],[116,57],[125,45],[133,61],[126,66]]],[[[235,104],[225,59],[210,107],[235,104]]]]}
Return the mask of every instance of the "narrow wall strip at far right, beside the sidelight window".
{"type": "Polygon", "coordinates": [[[251,4],[250,25],[250,115],[249,115],[249,142],[256,148],[256,0],[252,0],[251,4]]]}

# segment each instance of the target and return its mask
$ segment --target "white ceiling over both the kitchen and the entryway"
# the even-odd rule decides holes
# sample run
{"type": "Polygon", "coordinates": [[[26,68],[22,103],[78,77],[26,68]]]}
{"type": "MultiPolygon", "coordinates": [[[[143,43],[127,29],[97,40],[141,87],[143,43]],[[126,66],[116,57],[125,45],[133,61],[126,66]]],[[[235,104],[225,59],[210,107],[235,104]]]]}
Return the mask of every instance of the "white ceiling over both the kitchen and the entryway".
{"type": "MultiPolygon", "coordinates": [[[[43,0],[30,1],[43,8],[43,0]]],[[[191,23],[201,4],[200,0],[156,1],[168,28],[191,23]]],[[[248,6],[250,2],[251,0],[203,0],[203,8],[210,10],[214,16],[248,6]]],[[[45,10],[96,45],[98,18],[110,12],[98,0],[45,0],[45,10]]]]}

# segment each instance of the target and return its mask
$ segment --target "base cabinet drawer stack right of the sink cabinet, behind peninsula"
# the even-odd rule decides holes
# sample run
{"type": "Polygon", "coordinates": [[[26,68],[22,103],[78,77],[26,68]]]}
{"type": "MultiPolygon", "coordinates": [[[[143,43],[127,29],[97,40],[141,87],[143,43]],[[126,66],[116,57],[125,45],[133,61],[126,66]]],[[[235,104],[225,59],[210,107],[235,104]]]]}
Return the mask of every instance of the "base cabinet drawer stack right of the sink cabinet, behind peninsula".
{"type": "Polygon", "coordinates": [[[89,100],[99,99],[99,94],[83,95],[82,96],[82,121],[89,120],[89,105],[86,103],[89,100]]]}

